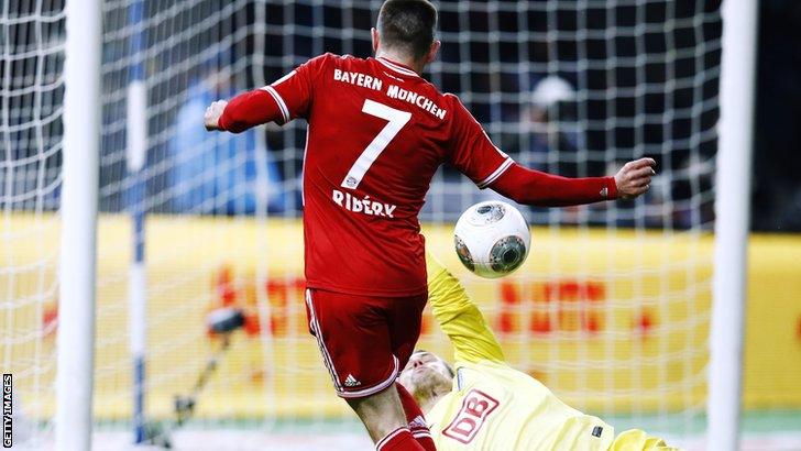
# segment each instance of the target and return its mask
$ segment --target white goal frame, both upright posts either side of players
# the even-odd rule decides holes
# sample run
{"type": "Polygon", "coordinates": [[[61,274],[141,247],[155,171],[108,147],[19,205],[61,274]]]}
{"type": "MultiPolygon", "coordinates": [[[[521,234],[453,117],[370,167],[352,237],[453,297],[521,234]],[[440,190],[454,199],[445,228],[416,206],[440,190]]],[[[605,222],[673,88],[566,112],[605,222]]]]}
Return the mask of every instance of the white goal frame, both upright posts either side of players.
{"type": "MultiPolygon", "coordinates": [[[[65,10],[64,111],[81,113],[64,114],[55,438],[58,449],[80,450],[92,428],[102,4],[65,10]]],[[[757,16],[754,0],[723,3],[706,439],[726,450],[739,437],[757,16]]]]}

